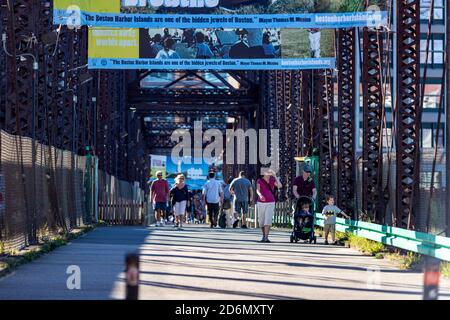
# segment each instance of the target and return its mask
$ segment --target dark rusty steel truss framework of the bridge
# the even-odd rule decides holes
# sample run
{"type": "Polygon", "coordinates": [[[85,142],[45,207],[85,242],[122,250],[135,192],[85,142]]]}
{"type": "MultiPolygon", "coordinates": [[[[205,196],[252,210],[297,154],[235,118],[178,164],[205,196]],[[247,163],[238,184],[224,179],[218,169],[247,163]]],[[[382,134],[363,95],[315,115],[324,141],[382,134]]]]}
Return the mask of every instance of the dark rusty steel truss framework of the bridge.
{"type": "MultiPolygon", "coordinates": [[[[180,123],[192,128],[193,120],[208,116],[219,123],[211,126],[221,130],[279,128],[280,175],[285,186],[295,175],[294,157],[314,152],[320,158],[321,195],[336,193],[338,205],[356,214],[355,190],[363,188],[361,211],[378,223],[384,223],[390,195],[395,197],[394,225],[415,228],[420,173],[419,0],[397,1],[396,30],[336,31],[336,72],[230,71],[226,77],[215,72],[218,85],[201,72],[180,71],[160,87],[141,85],[153,70],[88,73],[87,28],[76,31],[61,26],[56,34],[52,1],[1,0],[0,4],[0,33],[6,35],[5,47],[12,55],[0,51],[2,130],[76,154],[85,153],[88,146],[99,158],[101,170],[146,188],[147,155],[171,147],[170,134],[180,123]],[[387,50],[394,41],[395,61],[387,50]],[[19,54],[27,56],[19,58],[19,54]],[[38,70],[33,69],[29,54],[36,58],[38,70]],[[355,73],[359,61],[360,79],[355,73]],[[390,76],[389,65],[396,66],[397,73],[395,193],[383,181],[382,172],[383,85],[390,76]],[[180,87],[189,77],[204,86],[180,87]],[[359,85],[363,174],[358,187],[355,105],[359,85]],[[335,90],[337,119],[333,116],[335,90]],[[171,117],[182,121],[171,121],[171,117]],[[236,120],[227,123],[230,117],[236,120]]],[[[257,168],[226,166],[224,176],[242,169],[255,174],[257,168]]],[[[290,192],[283,190],[286,196],[290,192]]]]}

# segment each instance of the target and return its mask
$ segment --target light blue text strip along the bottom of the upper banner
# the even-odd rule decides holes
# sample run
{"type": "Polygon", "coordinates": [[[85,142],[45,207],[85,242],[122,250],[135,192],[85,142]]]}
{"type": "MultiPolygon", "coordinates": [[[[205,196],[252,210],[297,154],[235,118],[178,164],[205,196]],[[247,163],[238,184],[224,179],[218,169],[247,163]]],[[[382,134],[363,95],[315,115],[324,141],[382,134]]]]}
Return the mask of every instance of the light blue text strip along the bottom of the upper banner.
{"type": "Polygon", "coordinates": [[[387,12],[312,14],[124,14],[54,10],[55,24],[114,28],[351,28],[387,25],[387,12]]]}

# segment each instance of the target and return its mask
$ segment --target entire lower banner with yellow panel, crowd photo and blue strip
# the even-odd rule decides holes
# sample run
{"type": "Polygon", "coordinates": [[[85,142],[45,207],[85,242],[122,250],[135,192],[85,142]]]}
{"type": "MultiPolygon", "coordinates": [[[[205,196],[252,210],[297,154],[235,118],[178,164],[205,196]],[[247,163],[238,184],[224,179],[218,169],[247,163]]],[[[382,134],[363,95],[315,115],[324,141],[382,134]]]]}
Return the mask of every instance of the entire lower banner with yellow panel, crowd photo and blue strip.
{"type": "Polygon", "coordinates": [[[334,68],[332,29],[89,30],[91,69],[334,68]]]}

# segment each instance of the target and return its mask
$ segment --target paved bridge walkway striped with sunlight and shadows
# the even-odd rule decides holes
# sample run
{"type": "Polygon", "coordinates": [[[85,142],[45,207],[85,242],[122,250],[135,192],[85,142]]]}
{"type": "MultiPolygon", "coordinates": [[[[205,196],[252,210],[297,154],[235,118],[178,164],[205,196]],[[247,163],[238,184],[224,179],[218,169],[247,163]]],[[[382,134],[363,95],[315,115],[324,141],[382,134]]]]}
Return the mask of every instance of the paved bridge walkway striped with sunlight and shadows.
{"type": "Polygon", "coordinates": [[[421,299],[423,275],[390,261],[322,239],[290,244],[286,232],[259,239],[258,230],[99,228],[0,279],[0,299],[123,299],[124,254],[136,249],[141,299],[421,299]],[[66,287],[69,265],[81,268],[81,290],[66,287]]]}

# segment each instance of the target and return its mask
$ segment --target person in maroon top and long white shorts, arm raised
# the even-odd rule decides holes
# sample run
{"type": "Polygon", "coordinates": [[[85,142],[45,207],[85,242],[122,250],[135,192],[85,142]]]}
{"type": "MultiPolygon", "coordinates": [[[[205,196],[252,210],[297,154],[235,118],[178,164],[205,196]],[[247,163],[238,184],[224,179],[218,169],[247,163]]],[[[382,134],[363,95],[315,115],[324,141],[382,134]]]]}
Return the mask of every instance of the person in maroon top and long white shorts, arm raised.
{"type": "Polygon", "coordinates": [[[269,231],[272,226],[276,202],[275,187],[282,187],[282,184],[276,177],[275,172],[272,169],[265,170],[266,171],[263,177],[258,179],[256,182],[256,193],[258,194],[256,210],[258,213],[259,227],[263,233],[263,237],[260,242],[270,242],[269,231]]]}

